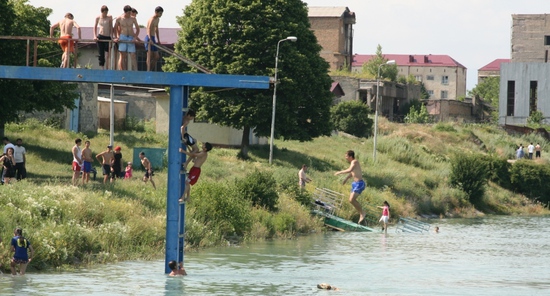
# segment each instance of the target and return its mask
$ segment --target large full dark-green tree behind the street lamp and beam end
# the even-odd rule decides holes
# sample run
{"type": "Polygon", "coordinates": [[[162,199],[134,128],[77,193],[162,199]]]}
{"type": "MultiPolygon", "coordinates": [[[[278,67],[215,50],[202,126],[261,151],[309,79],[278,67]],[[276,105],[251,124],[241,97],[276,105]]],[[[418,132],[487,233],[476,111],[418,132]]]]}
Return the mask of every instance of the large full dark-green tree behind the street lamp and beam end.
{"type": "MultiPolygon", "coordinates": [[[[274,76],[279,40],[275,137],[309,141],[328,135],[331,79],[321,46],[310,29],[307,6],[300,0],[193,0],[178,18],[183,29],[176,51],[217,74],[274,76]]],[[[189,70],[169,59],[164,70],[189,70]]],[[[241,153],[248,134],[269,136],[271,90],[225,90],[192,93],[191,105],[210,122],[243,129],[241,153]]]]}

